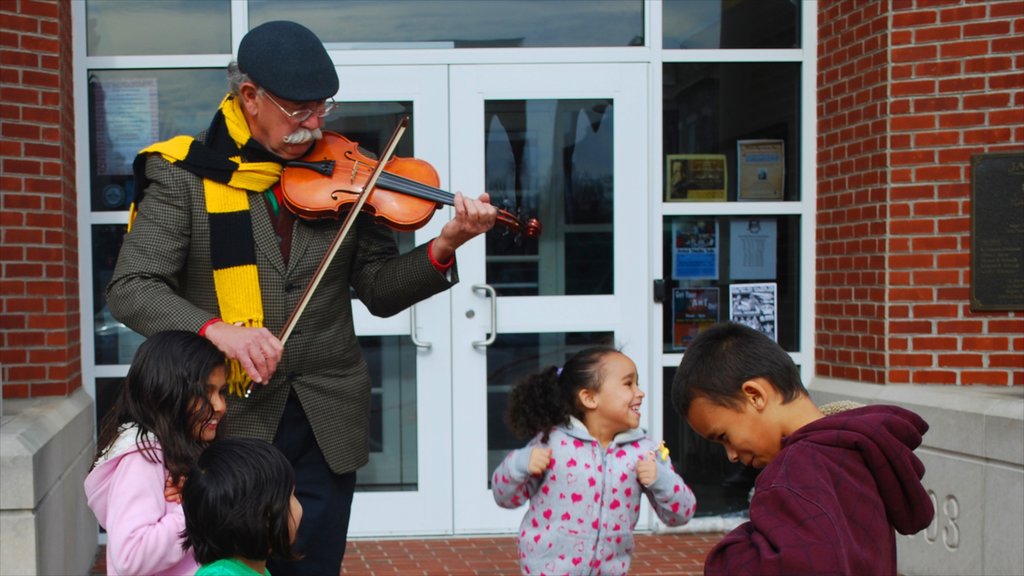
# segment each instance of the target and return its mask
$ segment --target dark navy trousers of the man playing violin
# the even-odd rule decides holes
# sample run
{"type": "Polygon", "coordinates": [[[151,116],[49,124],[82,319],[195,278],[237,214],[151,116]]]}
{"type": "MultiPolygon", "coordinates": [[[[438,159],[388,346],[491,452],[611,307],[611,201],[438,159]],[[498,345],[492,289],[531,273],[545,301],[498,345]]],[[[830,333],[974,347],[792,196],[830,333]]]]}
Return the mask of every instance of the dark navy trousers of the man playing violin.
{"type": "Polygon", "coordinates": [[[341,574],[355,472],[339,476],[331,471],[294,392],[288,397],[273,445],[295,468],[295,497],[302,504],[302,522],[292,548],[302,560],[270,558],[267,570],[273,576],[341,574]]]}

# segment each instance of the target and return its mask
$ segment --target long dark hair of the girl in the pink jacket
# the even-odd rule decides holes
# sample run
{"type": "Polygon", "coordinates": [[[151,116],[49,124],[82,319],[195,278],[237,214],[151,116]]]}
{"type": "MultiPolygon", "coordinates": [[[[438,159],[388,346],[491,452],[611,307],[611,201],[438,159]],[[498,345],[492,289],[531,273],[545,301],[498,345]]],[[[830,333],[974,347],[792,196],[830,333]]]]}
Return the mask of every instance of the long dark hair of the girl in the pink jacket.
{"type": "Polygon", "coordinates": [[[159,461],[157,447],[143,440],[146,433],[155,436],[164,467],[177,484],[206,447],[193,430],[196,423],[213,416],[207,382],[218,366],[224,366],[224,354],[199,334],[170,330],[146,338],[103,418],[96,459],[110,449],[123,426],[134,424],[139,451],[151,462],[159,461]]]}

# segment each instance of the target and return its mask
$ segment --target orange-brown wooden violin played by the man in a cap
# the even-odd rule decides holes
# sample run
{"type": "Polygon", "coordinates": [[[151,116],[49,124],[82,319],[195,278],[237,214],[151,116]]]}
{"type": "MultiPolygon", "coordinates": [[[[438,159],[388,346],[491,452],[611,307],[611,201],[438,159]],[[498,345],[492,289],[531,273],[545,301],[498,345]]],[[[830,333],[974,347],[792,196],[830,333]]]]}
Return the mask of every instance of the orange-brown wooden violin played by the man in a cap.
{"type": "MultiPolygon", "coordinates": [[[[359,152],[358,143],[325,131],[305,156],[285,165],[281,176],[284,204],[300,218],[338,218],[366,191],[377,166],[376,159],[359,152]]],[[[394,230],[418,230],[442,205],[455,203],[455,195],[439,190],[438,183],[437,171],[428,162],[392,156],[361,209],[394,230]]],[[[520,222],[514,214],[499,208],[497,221],[516,235],[541,235],[537,218],[520,222]]]]}

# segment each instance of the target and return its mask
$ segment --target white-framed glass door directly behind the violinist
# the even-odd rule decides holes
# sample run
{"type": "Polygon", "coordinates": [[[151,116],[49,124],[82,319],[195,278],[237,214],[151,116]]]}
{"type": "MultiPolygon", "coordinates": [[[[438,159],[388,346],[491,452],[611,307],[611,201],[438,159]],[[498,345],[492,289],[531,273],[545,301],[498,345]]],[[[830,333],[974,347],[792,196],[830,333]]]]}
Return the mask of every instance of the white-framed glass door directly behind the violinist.
{"type": "MultiPolygon", "coordinates": [[[[339,67],[338,76],[339,105],[327,129],[377,155],[408,116],[395,154],[447,174],[444,67],[339,67]]],[[[399,250],[429,241],[447,219],[441,210],[424,228],[397,233],[399,250]]],[[[357,301],[353,312],[374,388],[370,463],[356,475],[349,534],[450,533],[451,298],[437,294],[391,318],[372,316],[357,301]]]]}

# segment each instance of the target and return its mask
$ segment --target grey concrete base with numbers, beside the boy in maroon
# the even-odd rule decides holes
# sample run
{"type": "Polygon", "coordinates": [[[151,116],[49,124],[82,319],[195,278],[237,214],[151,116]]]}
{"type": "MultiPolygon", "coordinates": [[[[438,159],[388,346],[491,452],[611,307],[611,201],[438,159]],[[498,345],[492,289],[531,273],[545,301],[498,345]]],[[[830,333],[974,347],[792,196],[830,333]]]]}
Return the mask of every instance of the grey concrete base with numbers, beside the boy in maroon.
{"type": "Polygon", "coordinates": [[[1024,574],[1024,389],[815,378],[817,404],[893,404],[931,426],[918,456],[935,520],[897,535],[902,574],[1024,574]]]}

